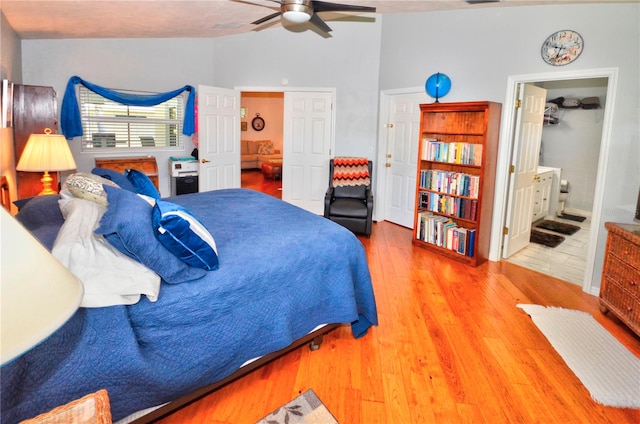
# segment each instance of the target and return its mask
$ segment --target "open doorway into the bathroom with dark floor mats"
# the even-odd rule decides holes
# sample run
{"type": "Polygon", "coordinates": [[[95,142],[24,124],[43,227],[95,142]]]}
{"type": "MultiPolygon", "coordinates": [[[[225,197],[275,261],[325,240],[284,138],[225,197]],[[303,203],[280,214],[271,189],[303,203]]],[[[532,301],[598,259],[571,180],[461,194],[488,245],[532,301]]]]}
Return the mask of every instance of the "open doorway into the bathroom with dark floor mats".
{"type": "Polygon", "coordinates": [[[582,285],[604,109],[578,103],[596,98],[599,105],[605,105],[607,78],[533,84],[546,90],[548,102],[541,147],[536,152],[537,180],[528,220],[533,237],[532,242],[514,254],[508,256],[503,251],[503,257],[525,268],[582,285]]]}

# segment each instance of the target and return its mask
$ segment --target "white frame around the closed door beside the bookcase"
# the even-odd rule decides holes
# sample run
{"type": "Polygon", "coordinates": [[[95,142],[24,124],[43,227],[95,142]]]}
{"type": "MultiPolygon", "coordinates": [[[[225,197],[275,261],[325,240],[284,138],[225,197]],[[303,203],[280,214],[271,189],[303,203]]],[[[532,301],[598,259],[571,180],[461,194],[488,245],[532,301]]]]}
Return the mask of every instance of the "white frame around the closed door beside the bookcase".
{"type": "MultiPolygon", "coordinates": [[[[378,151],[376,153],[376,184],[374,189],[374,196],[376,198],[376,202],[373,207],[373,220],[374,221],[384,221],[387,217],[385,216],[385,208],[386,205],[386,187],[387,187],[387,179],[386,179],[386,168],[385,163],[387,162],[387,147],[389,145],[387,138],[387,125],[388,122],[387,117],[390,113],[391,107],[391,97],[392,96],[401,96],[401,95],[409,95],[409,94],[421,94],[425,93],[424,86],[423,87],[406,87],[406,88],[395,88],[391,90],[382,90],[380,91],[380,115],[378,119],[378,151]]],[[[416,134],[416,138],[419,137],[419,134],[416,134]]]]}

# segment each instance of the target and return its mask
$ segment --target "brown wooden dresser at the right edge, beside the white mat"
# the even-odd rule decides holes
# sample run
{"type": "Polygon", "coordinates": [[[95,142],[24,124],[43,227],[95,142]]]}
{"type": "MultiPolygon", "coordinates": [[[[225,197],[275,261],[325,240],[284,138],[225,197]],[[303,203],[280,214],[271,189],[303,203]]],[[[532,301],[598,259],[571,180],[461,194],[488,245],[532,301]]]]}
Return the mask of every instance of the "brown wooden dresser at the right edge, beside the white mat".
{"type": "Polygon", "coordinates": [[[640,336],[640,225],[607,222],[605,228],[600,310],[611,311],[640,336]]]}

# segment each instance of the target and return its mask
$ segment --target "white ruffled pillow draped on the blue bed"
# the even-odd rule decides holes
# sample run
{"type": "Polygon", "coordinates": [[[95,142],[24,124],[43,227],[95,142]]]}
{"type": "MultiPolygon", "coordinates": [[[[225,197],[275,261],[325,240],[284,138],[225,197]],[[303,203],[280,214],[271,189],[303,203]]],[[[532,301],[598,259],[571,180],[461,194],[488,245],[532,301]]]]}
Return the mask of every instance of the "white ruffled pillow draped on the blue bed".
{"type": "Polygon", "coordinates": [[[58,203],[65,223],[51,253],[82,281],[80,306],[131,305],[142,294],[152,302],[158,300],[160,277],[94,234],[104,206],[78,198],[60,199],[58,203]]]}

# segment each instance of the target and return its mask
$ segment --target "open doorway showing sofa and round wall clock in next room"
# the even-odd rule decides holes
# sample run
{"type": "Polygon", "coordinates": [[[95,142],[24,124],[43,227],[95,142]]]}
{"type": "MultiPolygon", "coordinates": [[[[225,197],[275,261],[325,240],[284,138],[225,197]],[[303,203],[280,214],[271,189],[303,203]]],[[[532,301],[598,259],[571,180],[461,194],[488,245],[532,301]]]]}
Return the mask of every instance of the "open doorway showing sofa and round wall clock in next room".
{"type": "Polygon", "coordinates": [[[240,93],[240,186],[282,198],[284,92],[240,93]]]}

